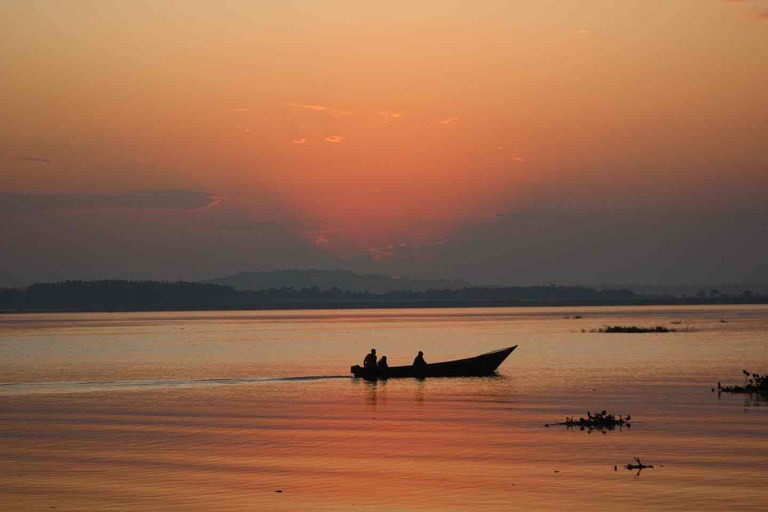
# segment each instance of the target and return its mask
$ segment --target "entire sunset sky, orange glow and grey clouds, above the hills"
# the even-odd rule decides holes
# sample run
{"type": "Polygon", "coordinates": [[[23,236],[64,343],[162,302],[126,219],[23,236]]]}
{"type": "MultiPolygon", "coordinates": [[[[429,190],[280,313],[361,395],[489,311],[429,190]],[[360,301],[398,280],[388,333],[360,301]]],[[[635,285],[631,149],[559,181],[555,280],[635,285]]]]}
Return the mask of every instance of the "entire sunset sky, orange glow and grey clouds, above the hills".
{"type": "Polygon", "coordinates": [[[768,0],[4,0],[0,286],[768,282],[768,0]]]}

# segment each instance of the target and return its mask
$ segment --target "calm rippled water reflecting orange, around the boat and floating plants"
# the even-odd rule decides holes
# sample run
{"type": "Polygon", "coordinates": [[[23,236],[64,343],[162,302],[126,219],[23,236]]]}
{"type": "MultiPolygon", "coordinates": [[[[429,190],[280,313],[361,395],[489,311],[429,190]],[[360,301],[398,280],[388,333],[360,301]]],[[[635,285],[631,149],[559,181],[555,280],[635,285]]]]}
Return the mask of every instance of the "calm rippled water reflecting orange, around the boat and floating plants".
{"type": "Polygon", "coordinates": [[[768,373],[768,307],[0,315],[0,503],[756,510],[768,404],[710,391],[742,368],[768,373]],[[495,378],[348,376],[515,344],[495,378]],[[543,427],[602,409],[632,428],[543,427]]]}

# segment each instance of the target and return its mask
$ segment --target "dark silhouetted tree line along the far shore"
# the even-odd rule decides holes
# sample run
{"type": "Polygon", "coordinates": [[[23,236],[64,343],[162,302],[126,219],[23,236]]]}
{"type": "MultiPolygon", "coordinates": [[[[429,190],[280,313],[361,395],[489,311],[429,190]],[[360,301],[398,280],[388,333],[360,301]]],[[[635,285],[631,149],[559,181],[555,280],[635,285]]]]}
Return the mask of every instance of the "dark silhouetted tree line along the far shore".
{"type": "MultiPolygon", "coordinates": [[[[629,289],[584,286],[467,287],[387,293],[339,288],[237,290],[186,281],[62,281],[27,288],[0,288],[0,309],[12,311],[153,311],[301,307],[409,307],[440,305],[633,304],[644,296],[629,289]]],[[[719,298],[725,300],[724,298],[719,298]]],[[[751,296],[750,302],[768,297],[751,296]]],[[[677,299],[676,303],[681,299],[677,299]]],[[[711,300],[711,299],[706,299],[711,300]]],[[[690,299],[687,303],[690,303],[690,299]]]]}

